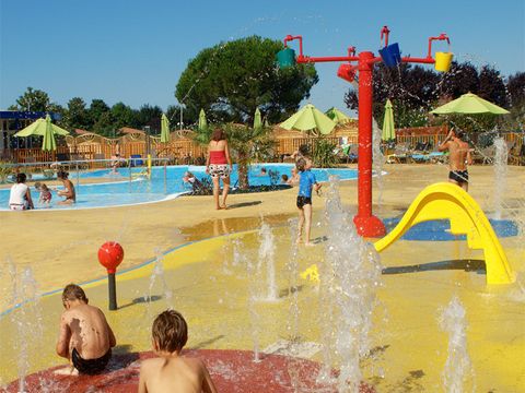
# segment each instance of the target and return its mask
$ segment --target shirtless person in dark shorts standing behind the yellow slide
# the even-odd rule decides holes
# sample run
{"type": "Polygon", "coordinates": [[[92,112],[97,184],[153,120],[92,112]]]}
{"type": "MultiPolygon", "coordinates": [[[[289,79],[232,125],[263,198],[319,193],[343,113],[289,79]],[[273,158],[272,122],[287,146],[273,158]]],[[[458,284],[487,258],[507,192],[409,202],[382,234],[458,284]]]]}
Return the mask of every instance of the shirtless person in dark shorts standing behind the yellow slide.
{"type": "Polygon", "coordinates": [[[448,166],[451,171],[448,172],[448,181],[468,191],[467,165],[472,164],[472,158],[470,156],[470,146],[464,139],[464,132],[458,132],[456,135],[454,129],[452,129],[438,150],[440,152],[450,152],[448,166]]]}

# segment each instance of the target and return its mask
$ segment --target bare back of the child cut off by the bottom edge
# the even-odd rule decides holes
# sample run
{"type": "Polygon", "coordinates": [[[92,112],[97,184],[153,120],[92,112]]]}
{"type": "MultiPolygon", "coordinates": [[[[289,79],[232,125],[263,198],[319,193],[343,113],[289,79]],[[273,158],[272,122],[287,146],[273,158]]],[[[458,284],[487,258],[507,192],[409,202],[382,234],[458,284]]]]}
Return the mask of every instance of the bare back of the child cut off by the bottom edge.
{"type": "Polygon", "coordinates": [[[147,392],[213,392],[201,360],[185,357],[159,357],[142,362],[140,377],[147,392]]]}

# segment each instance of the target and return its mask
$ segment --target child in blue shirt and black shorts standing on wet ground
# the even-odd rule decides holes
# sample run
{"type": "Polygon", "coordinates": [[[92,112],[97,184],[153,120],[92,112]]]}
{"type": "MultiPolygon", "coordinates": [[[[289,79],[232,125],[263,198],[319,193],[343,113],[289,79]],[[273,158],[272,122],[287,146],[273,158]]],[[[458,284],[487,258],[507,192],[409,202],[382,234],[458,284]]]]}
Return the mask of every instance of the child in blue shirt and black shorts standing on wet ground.
{"type": "Polygon", "coordinates": [[[305,226],[305,246],[313,246],[310,242],[310,229],[312,227],[312,188],[315,192],[318,192],[320,184],[315,179],[315,175],[310,169],[311,165],[304,158],[299,158],[295,163],[299,170],[299,195],[298,195],[298,209],[299,209],[299,228],[298,228],[298,245],[301,242],[301,235],[303,231],[303,225],[305,226]]]}

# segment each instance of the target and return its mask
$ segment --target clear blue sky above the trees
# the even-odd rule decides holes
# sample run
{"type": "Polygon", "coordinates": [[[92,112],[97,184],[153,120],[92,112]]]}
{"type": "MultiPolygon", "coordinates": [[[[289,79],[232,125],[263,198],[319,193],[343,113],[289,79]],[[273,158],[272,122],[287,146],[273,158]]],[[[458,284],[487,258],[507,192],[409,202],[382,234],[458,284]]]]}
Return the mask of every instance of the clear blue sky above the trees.
{"type": "MultiPolygon", "coordinates": [[[[458,61],[525,71],[524,0],[0,0],[0,110],[28,86],[63,106],[82,97],[165,110],[188,61],[220,41],[292,34],[307,56],[346,56],[349,46],[377,53],[384,25],[404,56],[424,57],[428,37],[446,33],[458,61]]],[[[346,108],[338,66],[316,64],[307,100],[319,109],[346,108]]]]}

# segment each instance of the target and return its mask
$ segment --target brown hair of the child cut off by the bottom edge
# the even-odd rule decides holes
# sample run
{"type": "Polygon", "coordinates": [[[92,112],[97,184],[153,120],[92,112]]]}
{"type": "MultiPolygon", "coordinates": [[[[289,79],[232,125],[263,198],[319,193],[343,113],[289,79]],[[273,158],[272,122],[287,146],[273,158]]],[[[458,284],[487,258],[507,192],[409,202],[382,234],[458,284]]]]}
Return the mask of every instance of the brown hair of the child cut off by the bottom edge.
{"type": "Polygon", "coordinates": [[[188,341],[188,325],[179,312],[166,310],[153,321],[151,335],[159,350],[178,352],[188,341]]]}

